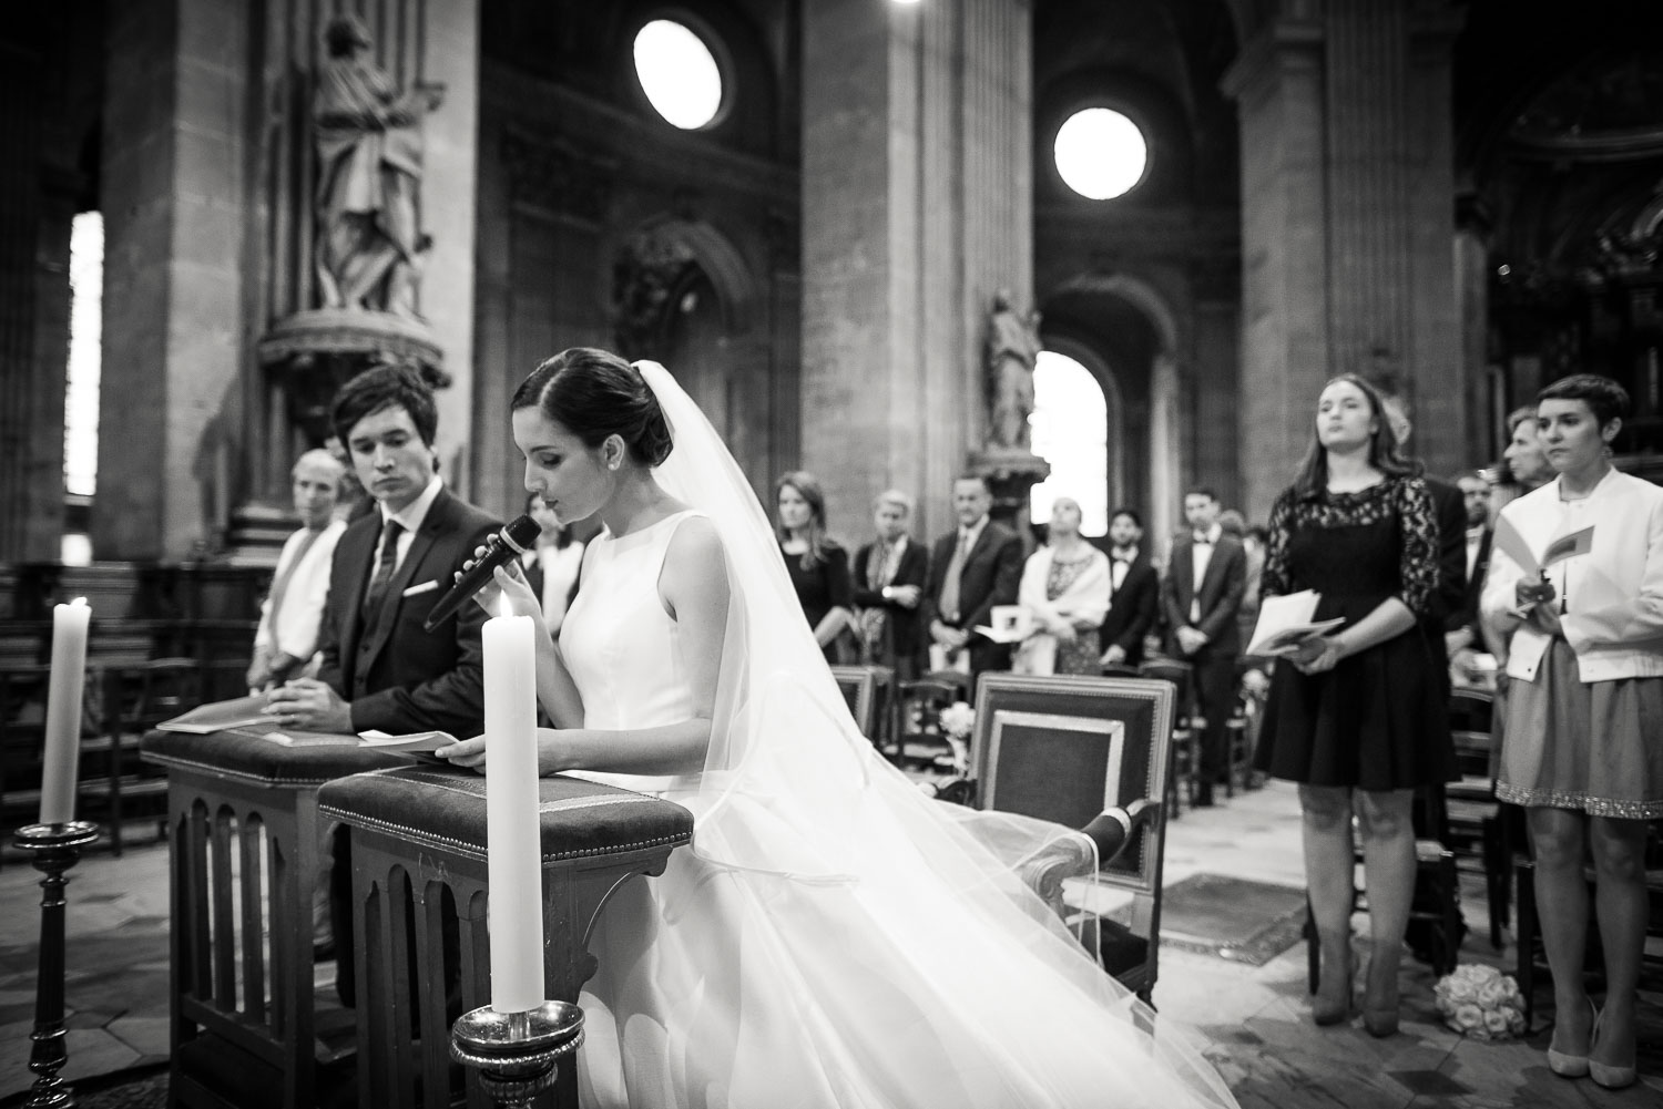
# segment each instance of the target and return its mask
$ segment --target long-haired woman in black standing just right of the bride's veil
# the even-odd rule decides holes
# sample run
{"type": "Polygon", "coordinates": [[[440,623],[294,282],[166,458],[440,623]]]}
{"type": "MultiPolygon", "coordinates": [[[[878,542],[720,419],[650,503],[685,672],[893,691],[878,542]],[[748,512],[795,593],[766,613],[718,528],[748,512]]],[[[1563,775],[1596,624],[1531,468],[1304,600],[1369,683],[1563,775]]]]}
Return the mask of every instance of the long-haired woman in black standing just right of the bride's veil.
{"type": "Polygon", "coordinates": [[[827,535],[827,497],[820,481],[807,471],[792,471],[773,482],[773,499],[780,554],[815,642],[827,662],[855,662],[848,552],[827,535]]]}

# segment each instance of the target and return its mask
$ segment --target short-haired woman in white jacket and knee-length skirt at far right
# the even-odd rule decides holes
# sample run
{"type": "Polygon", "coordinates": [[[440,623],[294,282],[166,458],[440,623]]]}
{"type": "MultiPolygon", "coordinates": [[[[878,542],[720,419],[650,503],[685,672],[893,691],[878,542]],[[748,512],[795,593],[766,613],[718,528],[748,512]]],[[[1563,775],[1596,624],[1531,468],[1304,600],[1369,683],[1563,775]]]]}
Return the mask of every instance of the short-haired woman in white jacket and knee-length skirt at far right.
{"type": "Polygon", "coordinates": [[[1553,971],[1548,1066],[1611,1089],[1635,1082],[1635,994],[1646,936],[1646,821],[1663,816],[1663,489],[1618,472],[1628,414],[1615,381],[1575,374],[1537,394],[1558,479],[1502,510],[1530,550],[1593,527],[1587,554],[1542,577],[1497,545],[1483,617],[1510,635],[1495,795],[1527,806],[1542,941],[1553,971]],[[1605,1008],[1583,981],[1591,848],[1605,1008]]]}

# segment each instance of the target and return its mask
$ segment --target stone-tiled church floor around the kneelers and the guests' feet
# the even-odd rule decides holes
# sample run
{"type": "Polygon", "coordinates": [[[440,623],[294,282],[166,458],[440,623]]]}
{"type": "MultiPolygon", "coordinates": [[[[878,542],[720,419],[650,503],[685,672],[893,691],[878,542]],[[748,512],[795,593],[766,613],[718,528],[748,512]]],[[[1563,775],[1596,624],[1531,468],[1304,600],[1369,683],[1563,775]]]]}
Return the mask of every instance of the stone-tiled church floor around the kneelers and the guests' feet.
{"type": "MultiPolygon", "coordinates": [[[[155,825],[150,826],[153,833],[155,825]]],[[[1302,885],[1299,815],[1290,786],[1269,785],[1169,825],[1166,883],[1196,873],[1302,885]]],[[[85,1079],[160,1062],[168,1051],[166,848],[135,828],[123,858],[90,853],[73,873],[68,909],[70,1064],[85,1079]]],[[[10,850],[0,868],[0,1106],[20,1104],[32,1076],[38,875],[10,850]]],[[[1478,883],[1463,885],[1470,931],[1462,961],[1512,971],[1513,953],[1488,944],[1478,883]]],[[[1357,931],[1364,919],[1357,919],[1357,931]]],[[[1162,1021],[1201,1042],[1244,1109],[1490,1109],[1502,1106],[1663,1104],[1663,976],[1641,996],[1641,1081],[1621,1092],[1553,1076],[1538,1029],[1523,1042],[1485,1044],[1445,1029],[1432,1008],[1432,973],[1405,961],[1404,1031],[1374,1039],[1360,1026],[1319,1029],[1305,1001],[1295,944],[1264,966],[1167,948],[1154,991],[1162,1021]]]]}

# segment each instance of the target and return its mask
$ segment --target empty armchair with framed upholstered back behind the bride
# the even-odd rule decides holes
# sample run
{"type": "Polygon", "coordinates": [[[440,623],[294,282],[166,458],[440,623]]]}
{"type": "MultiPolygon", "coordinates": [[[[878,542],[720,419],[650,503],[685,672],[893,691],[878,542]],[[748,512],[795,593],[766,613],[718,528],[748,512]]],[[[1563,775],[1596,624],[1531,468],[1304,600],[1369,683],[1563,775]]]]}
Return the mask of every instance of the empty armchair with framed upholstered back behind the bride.
{"type": "MultiPolygon", "coordinates": [[[[1172,687],[1151,678],[984,673],[976,687],[971,766],[980,808],[1084,830],[1098,843],[1098,883],[1121,904],[1098,936],[1104,968],[1149,1001],[1161,931],[1167,745],[1172,687]],[[1098,840],[1108,833],[1106,840],[1098,840]]],[[[1024,875],[1059,904],[1089,861],[1024,875]]]]}

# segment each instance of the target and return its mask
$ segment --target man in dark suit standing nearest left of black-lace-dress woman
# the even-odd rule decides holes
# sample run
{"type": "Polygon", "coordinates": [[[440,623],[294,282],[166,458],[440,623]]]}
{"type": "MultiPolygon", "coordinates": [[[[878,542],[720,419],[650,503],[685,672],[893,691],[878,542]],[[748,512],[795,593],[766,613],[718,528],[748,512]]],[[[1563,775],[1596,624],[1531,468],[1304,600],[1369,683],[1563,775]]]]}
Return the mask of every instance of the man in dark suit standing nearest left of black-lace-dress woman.
{"type": "Polygon", "coordinates": [[[1184,494],[1184,519],[1191,530],[1172,544],[1161,607],[1171,628],[1167,653],[1189,662],[1196,707],[1207,722],[1196,805],[1212,805],[1212,786],[1229,773],[1226,723],[1236,708],[1236,612],[1247,592],[1247,554],[1219,527],[1219,499],[1211,489],[1184,494]]]}

